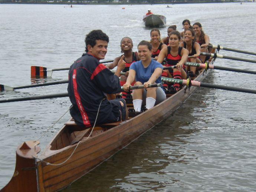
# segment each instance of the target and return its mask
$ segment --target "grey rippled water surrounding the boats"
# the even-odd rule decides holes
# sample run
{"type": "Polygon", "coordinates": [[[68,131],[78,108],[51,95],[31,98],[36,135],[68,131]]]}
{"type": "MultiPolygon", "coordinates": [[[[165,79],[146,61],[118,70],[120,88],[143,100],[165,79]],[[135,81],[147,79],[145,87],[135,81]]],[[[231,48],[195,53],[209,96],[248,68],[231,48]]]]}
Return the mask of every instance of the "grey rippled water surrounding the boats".
{"type": "MultiPolygon", "coordinates": [[[[256,3],[171,5],[13,5],[0,4],[0,84],[29,85],[67,79],[30,79],[30,66],[68,67],[84,50],[85,34],[102,29],[110,42],[106,60],[119,56],[122,37],[150,38],[142,15],[151,8],[167,25],[199,21],[212,44],[256,52],[256,3]],[[125,9],[122,9],[125,7],[125,9]]],[[[166,36],[167,27],[161,29],[166,36]]],[[[256,59],[256,56],[220,51],[256,59]]],[[[256,64],[217,59],[216,65],[256,70],[256,64]]],[[[211,72],[205,82],[256,89],[255,75],[211,72]]],[[[55,85],[1,92],[0,99],[66,92],[55,85]]],[[[256,96],[198,88],[168,119],[145,133],[65,191],[255,191],[256,96]]],[[[12,177],[15,150],[35,140],[70,106],[68,98],[0,104],[0,188],[12,177]]],[[[67,113],[43,138],[43,149],[67,113]]]]}

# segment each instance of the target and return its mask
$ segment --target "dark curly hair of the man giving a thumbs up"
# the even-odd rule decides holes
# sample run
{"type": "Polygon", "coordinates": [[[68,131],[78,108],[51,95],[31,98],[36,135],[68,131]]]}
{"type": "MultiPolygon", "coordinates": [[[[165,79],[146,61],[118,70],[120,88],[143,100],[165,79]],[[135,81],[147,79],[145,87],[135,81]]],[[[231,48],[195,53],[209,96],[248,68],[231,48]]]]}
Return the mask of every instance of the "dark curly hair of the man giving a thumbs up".
{"type": "Polygon", "coordinates": [[[109,42],[109,38],[106,33],[103,33],[102,30],[92,30],[85,37],[85,51],[88,52],[88,45],[94,47],[96,45],[96,40],[103,40],[109,42]]]}

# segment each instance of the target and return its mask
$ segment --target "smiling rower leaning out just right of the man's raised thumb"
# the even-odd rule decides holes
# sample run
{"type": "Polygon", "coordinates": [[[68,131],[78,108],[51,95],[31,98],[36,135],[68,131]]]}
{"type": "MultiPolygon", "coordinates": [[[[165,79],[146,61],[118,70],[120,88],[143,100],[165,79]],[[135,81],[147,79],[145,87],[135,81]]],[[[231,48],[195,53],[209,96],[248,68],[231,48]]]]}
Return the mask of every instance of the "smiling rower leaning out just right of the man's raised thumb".
{"type": "MultiPolygon", "coordinates": [[[[106,65],[106,67],[108,67],[109,69],[113,69],[114,67],[117,66],[119,60],[121,59],[121,57],[123,56],[123,60],[125,62],[125,68],[124,70],[122,70],[122,72],[126,72],[127,76],[128,76],[128,71],[129,71],[129,67],[131,66],[132,63],[140,60],[138,57],[138,53],[137,52],[132,52],[132,48],[133,48],[133,44],[132,44],[132,39],[129,37],[124,37],[121,40],[120,43],[121,46],[121,53],[124,53],[123,55],[116,57],[114,59],[114,62],[106,65]]],[[[120,77],[120,85],[123,86],[127,80],[127,76],[125,75],[121,75],[120,77]]],[[[135,82],[132,83],[132,85],[134,85],[135,82]]],[[[131,95],[130,92],[128,92],[129,95],[131,95]]],[[[126,98],[127,96],[127,92],[122,92],[122,97],[126,98]]]]}

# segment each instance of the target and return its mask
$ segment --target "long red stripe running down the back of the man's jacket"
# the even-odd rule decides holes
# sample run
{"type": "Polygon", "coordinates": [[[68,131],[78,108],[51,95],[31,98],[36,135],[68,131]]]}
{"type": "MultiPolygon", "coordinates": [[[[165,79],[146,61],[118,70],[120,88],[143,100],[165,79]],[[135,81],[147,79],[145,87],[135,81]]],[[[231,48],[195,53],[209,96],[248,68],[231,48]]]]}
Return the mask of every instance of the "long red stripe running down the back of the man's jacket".
{"type": "Polygon", "coordinates": [[[81,102],[81,97],[78,93],[77,90],[77,83],[76,83],[76,69],[73,70],[73,89],[74,89],[74,94],[75,94],[75,99],[76,99],[76,105],[78,106],[78,109],[81,113],[82,119],[83,119],[83,125],[85,125],[86,127],[91,127],[91,123],[89,120],[89,117],[85,111],[85,109],[83,108],[83,104],[81,102]]]}

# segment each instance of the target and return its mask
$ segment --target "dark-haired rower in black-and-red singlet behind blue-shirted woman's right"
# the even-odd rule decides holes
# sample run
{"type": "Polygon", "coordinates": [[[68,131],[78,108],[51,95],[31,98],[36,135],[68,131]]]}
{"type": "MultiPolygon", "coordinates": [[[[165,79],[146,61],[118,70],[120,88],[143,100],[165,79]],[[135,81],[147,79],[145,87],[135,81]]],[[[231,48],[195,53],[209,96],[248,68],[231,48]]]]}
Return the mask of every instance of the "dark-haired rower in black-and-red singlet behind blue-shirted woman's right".
{"type": "MultiPolygon", "coordinates": [[[[180,40],[181,36],[178,31],[171,32],[169,39],[170,45],[161,50],[157,60],[159,63],[162,63],[165,58],[167,66],[176,65],[176,69],[169,69],[169,72],[174,79],[186,79],[187,77],[187,73],[184,70],[185,67],[183,64],[188,59],[188,50],[179,46],[180,40]]],[[[175,83],[174,87],[178,91],[180,85],[175,83]]]]}

